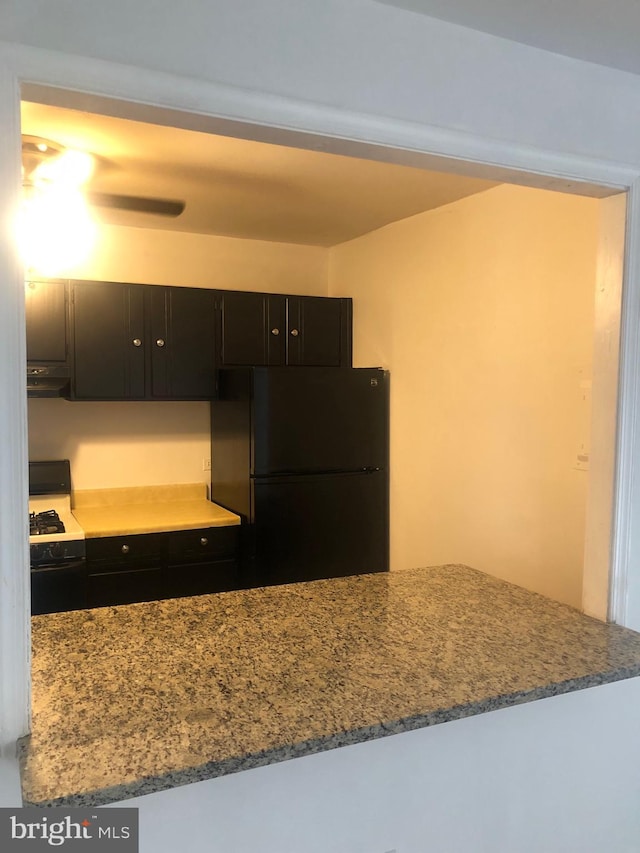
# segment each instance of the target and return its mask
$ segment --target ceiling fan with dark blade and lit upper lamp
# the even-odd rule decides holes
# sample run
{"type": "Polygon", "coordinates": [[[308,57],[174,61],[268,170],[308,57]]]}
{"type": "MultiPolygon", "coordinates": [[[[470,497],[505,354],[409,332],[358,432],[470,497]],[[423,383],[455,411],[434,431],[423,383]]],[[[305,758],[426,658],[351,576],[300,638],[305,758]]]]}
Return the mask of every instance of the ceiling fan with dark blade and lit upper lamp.
{"type": "Polygon", "coordinates": [[[52,186],[66,181],[74,187],[82,187],[83,195],[90,205],[147,213],[154,216],[180,216],[185,202],[167,198],[103,193],[84,189],[93,171],[99,168],[101,158],[85,151],[67,148],[40,136],[22,137],[22,174],[25,187],[39,184],[52,186]]]}

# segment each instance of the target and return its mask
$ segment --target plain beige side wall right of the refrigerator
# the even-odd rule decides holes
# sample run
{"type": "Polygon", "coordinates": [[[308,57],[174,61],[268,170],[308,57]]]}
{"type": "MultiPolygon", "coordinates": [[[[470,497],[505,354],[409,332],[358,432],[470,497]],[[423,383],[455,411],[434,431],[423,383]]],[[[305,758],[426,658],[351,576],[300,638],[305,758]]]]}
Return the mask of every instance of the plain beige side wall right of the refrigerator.
{"type": "Polygon", "coordinates": [[[391,370],[393,569],[579,607],[598,203],[500,186],[331,250],[354,364],[391,370]]]}

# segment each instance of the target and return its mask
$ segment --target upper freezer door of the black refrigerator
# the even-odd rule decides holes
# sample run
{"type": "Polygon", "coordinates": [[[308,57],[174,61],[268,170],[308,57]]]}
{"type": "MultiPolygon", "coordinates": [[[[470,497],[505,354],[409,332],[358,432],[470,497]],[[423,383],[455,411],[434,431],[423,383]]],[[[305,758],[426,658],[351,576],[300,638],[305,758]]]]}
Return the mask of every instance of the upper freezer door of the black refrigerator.
{"type": "Polygon", "coordinates": [[[256,369],[253,475],[387,467],[388,374],[256,369]]]}

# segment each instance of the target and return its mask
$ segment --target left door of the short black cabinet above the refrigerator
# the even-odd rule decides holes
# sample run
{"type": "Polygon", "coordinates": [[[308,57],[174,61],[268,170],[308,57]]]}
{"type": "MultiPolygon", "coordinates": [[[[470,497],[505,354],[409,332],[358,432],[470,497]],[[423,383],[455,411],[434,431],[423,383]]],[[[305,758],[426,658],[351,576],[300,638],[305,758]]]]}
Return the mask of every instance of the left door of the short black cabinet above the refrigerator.
{"type": "Polygon", "coordinates": [[[222,296],[221,366],[284,364],[286,297],[268,293],[222,296]]]}

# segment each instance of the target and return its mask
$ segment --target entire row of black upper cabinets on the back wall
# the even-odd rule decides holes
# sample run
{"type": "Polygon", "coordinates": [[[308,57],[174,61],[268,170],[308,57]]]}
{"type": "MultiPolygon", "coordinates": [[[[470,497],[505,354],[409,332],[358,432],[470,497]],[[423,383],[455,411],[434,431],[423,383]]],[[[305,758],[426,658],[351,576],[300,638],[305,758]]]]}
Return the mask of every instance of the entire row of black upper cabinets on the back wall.
{"type": "Polygon", "coordinates": [[[28,361],[69,360],[73,400],[208,400],[218,366],[351,366],[351,299],[38,280],[26,321],[28,361]]]}

